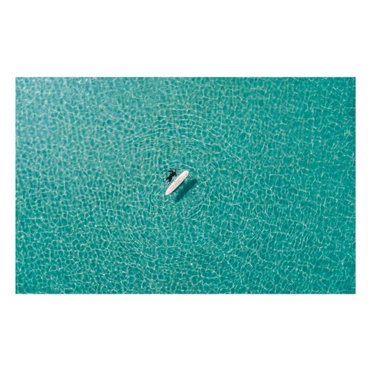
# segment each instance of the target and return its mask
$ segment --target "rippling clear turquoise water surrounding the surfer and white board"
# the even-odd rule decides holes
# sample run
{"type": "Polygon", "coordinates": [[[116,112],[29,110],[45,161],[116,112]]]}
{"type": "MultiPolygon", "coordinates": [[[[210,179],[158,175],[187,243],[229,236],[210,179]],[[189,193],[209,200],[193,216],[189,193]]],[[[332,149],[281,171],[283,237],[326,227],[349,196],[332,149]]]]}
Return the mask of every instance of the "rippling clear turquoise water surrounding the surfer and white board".
{"type": "Polygon", "coordinates": [[[355,293],[354,78],[16,93],[17,293],[355,293]]]}

